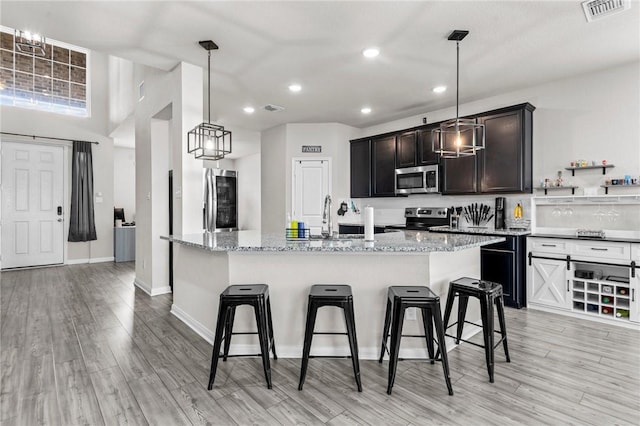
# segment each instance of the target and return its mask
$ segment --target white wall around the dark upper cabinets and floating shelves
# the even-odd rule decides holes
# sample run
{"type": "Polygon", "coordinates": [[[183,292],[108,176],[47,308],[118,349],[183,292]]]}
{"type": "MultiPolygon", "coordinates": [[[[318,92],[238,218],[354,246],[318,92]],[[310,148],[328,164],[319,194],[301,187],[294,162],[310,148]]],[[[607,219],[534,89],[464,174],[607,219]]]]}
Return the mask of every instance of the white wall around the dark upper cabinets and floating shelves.
{"type": "MultiPolygon", "coordinates": [[[[577,159],[601,161],[606,159],[615,168],[610,177],[640,174],[640,63],[579,75],[540,86],[524,88],[492,98],[462,104],[460,115],[468,115],[530,102],[536,107],[533,113],[533,182],[545,177],[553,178],[558,170],[567,180],[580,186],[599,186],[604,176],[601,171],[588,170],[571,177],[564,170],[569,162],[577,159]]],[[[429,122],[450,119],[455,107],[428,112],[429,122]]],[[[415,127],[422,124],[425,114],[395,120],[362,129],[360,136],[415,127]]],[[[640,193],[636,188],[611,189],[611,193],[640,193]]],[[[599,188],[602,194],[604,190],[599,188]]],[[[567,191],[568,193],[568,191],[567,191]]],[[[508,208],[517,201],[525,203],[525,214],[530,211],[530,197],[534,194],[508,195],[508,208]]],[[[408,206],[451,206],[467,202],[485,202],[492,205],[494,197],[412,195],[408,198],[369,198],[359,204],[376,208],[377,217],[386,222],[402,218],[402,208],[408,206]],[[389,219],[393,218],[393,219],[389,219]],[[386,220],[389,219],[389,220],[386,220]]]]}

